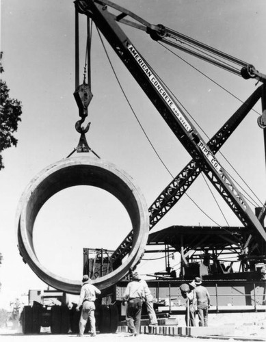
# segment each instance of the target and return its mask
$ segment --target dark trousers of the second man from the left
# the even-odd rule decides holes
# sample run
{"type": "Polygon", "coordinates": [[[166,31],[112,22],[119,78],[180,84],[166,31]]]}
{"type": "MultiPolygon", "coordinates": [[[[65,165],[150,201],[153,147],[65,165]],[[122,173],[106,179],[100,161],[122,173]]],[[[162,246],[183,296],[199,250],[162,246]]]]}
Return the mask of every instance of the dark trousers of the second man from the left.
{"type": "Polygon", "coordinates": [[[129,332],[132,334],[139,334],[141,316],[142,300],[140,298],[129,299],[127,303],[126,321],[129,332]]]}

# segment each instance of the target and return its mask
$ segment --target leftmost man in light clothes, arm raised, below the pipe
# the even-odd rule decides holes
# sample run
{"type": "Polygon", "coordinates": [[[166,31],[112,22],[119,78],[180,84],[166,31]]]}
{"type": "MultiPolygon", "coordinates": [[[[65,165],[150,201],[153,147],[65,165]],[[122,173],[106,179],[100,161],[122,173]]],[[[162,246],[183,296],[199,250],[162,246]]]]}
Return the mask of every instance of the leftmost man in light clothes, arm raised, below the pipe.
{"type": "Polygon", "coordinates": [[[79,319],[79,337],[82,337],[84,334],[85,326],[89,319],[90,321],[90,330],[92,337],[96,337],[96,327],[95,327],[95,304],[96,294],[101,294],[101,291],[97,289],[94,285],[92,285],[92,280],[90,280],[89,276],[85,274],[82,279],[83,285],[81,287],[81,293],[79,296],[79,304],[77,305],[76,310],[79,311],[82,307],[81,318],[79,319]]]}

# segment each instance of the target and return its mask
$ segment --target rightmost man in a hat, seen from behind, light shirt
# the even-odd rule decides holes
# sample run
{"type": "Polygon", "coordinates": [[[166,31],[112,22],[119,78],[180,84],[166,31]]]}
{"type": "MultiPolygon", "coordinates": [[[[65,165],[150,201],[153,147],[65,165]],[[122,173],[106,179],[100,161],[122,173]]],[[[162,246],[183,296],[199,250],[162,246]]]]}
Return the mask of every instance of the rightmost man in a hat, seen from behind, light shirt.
{"type": "Polygon", "coordinates": [[[202,281],[196,277],[193,281],[196,285],[194,289],[197,298],[199,326],[208,326],[208,310],[211,298],[206,287],[202,286],[202,281]]]}

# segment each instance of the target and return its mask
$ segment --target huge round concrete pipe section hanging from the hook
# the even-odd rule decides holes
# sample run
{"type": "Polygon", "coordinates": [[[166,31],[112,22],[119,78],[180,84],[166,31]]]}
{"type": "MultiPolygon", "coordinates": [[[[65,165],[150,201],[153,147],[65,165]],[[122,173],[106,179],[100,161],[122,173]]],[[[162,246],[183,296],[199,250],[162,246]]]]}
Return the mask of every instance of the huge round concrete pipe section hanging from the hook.
{"type": "Polygon", "coordinates": [[[63,159],[48,166],[31,180],[21,196],[17,211],[18,248],[21,256],[46,284],[60,291],[77,294],[81,288],[81,281],[57,276],[41,265],[33,241],[34,222],[46,200],[62,189],[76,185],[100,187],[116,196],[127,209],[133,228],[133,246],[127,259],[114,272],[92,280],[99,289],[106,289],[116,284],[127,274],[129,268],[134,267],[139,261],[148,239],[149,220],[144,196],[133,185],[131,176],[102,159],[94,157],[63,159]]]}

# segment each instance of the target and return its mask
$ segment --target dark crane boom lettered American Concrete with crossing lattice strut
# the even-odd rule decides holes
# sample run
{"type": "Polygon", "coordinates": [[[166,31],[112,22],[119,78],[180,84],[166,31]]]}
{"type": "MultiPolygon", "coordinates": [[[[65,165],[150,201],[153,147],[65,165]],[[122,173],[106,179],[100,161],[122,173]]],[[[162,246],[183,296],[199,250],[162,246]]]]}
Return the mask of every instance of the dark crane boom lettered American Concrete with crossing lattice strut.
{"type": "MultiPolygon", "coordinates": [[[[266,233],[261,224],[265,217],[265,209],[261,213],[261,220],[250,209],[230,176],[222,167],[220,161],[215,157],[217,150],[226,142],[232,131],[237,128],[243,117],[254,106],[259,98],[262,98],[263,114],[258,118],[258,123],[264,130],[265,147],[265,80],[266,76],[258,72],[252,64],[243,62],[222,51],[213,49],[206,44],[189,38],[161,24],[152,25],[140,18],[133,12],[122,8],[109,0],[90,1],[77,0],[75,6],[79,13],[92,18],[96,27],[120,60],[129,69],[139,86],[144,90],[150,101],[155,105],[159,114],[167,122],[170,129],[174,132],[178,140],[191,155],[192,161],[174,178],[174,180],[163,189],[155,202],[149,208],[150,229],[167,213],[174,204],[181,198],[186,189],[194,182],[200,172],[204,172],[207,179],[213,184],[226,201],[230,209],[237,215],[243,226],[252,227],[256,240],[260,244],[262,254],[265,254],[266,233]],[[109,12],[116,10],[118,14],[109,12]],[[130,20],[128,19],[130,18],[130,20]],[[132,21],[133,19],[133,21],[132,21]],[[204,142],[194,125],[189,121],[181,107],[174,101],[174,98],[166,90],[160,79],[155,75],[148,62],[144,60],[141,53],[137,51],[129,38],[124,34],[118,23],[130,25],[145,31],[153,40],[159,40],[172,47],[190,53],[202,60],[210,62],[215,66],[223,68],[243,77],[243,79],[257,79],[263,84],[248,98],[239,110],[224,124],[216,135],[209,142],[204,142]],[[238,117],[236,119],[236,117],[238,117]]],[[[131,248],[132,232],[122,241],[120,246],[113,254],[114,264],[120,263],[122,258],[131,248]]]]}

